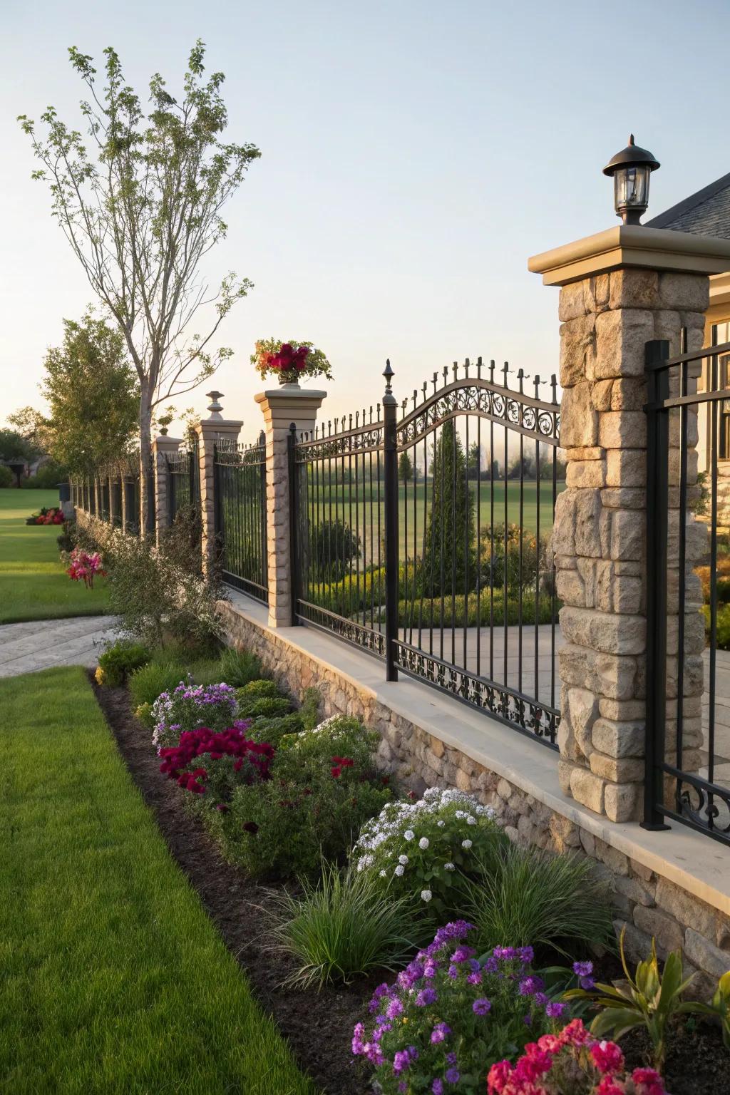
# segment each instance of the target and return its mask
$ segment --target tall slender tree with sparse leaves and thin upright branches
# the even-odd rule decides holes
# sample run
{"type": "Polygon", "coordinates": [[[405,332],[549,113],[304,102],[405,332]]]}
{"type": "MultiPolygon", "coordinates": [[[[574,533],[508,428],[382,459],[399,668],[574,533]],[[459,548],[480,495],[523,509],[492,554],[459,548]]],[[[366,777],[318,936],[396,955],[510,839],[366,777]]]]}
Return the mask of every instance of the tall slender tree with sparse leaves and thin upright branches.
{"type": "MultiPolygon", "coordinates": [[[[234,273],[209,289],[200,262],[227,232],[222,209],[258,155],[253,145],[223,139],[223,73],[204,77],[205,46],[189,55],[178,101],[159,73],[151,110],[124,79],[112,48],[105,85],[76,47],[69,50],[90,97],[81,103],[89,141],[49,106],[45,136],[21,115],[50,186],[53,212],[89,283],[124,335],[139,379],[140,459],[147,464],[153,408],[210,377],[232,350],[212,339],[251,288],[234,273]],[[201,324],[201,325],[200,325],[201,324]]],[[[142,526],[147,516],[141,477],[142,526]]]]}

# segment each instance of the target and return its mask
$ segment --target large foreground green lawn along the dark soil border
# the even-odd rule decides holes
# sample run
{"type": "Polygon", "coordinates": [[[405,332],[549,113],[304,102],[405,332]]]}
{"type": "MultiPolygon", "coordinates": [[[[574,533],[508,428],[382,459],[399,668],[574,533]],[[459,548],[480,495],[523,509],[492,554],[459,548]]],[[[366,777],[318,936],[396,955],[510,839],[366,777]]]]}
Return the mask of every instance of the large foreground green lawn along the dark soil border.
{"type": "Polygon", "coordinates": [[[315,1095],[79,668],[0,681],[0,1092],[315,1095]]]}

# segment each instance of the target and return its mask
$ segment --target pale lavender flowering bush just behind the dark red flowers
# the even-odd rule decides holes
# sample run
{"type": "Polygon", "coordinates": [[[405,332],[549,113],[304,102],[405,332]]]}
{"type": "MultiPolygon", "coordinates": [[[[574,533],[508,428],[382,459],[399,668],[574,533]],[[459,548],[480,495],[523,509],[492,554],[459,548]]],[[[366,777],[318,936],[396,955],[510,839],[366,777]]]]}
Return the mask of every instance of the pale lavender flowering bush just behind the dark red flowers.
{"type": "Polygon", "coordinates": [[[190,684],[181,681],[152,704],[152,741],[158,752],[177,745],[181,734],[205,726],[209,730],[237,727],[235,689],[230,684],[190,684]]]}

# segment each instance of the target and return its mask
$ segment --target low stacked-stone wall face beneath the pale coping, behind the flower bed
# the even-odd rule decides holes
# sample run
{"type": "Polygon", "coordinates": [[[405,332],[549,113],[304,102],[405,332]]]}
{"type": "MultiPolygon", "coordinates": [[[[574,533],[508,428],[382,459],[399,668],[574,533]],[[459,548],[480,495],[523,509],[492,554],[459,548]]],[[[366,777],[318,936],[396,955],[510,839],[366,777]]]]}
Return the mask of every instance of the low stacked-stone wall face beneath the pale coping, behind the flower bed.
{"type": "MultiPolygon", "coordinates": [[[[381,738],[378,762],[402,786],[417,794],[430,786],[459,787],[491,806],[512,840],[595,860],[613,891],[614,926],[617,933],[626,926],[627,953],[634,960],[646,957],[652,935],[662,957],[683,946],[688,973],[697,971],[694,992],[700,998],[707,998],[730,967],[730,918],[721,911],[392,711],[369,689],[293,647],[283,635],[259,627],[229,602],[220,602],[219,609],[229,642],[257,654],[282,689],[301,699],[305,689],[316,688],[323,716],[352,715],[376,729],[381,738]]],[[[603,724],[600,734],[615,733],[614,719],[596,722],[603,724]]]]}

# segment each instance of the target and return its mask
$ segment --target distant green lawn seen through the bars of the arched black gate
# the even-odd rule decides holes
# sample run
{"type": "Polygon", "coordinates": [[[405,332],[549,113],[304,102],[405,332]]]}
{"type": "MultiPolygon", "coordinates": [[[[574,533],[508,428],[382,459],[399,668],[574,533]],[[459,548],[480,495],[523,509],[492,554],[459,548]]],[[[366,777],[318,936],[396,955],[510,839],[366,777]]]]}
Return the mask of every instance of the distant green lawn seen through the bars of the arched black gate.
{"type": "MultiPolygon", "coordinates": [[[[333,473],[334,474],[334,473],[333,473]]],[[[505,483],[496,482],[494,491],[489,483],[482,483],[477,498],[476,482],[470,483],[470,488],[474,494],[474,520],[478,520],[479,527],[484,528],[491,523],[491,512],[494,503],[494,522],[500,525],[505,520],[505,483]]],[[[311,486],[316,493],[316,484],[311,486]]],[[[355,484],[320,484],[320,507],[318,512],[315,507],[314,514],[310,509],[309,517],[314,523],[323,520],[334,520],[339,517],[346,521],[354,531],[359,532],[364,548],[364,556],[369,561],[376,557],[379,530],[381,538],[385,532],[384,514],[384,486],[380,486],[380,523],[378,521],[378,484],[373,483],[372,492],[369,481],[363,484],[362,480],[358,484],[358,499],[355,498],[355,484]],[[372,494],[372,498],[371,498],[372,494]],[[372,533],[372,545],[371,545],[372,533]]],[[[565,482],[558,482],[558,494],[565,491],[565,482]]],[[[398,484],[398,539],[399,557],[404,560],[406,555],[413,557],[422,552],[424,541],[424,515],[431,507],[431,482],[424,483],[422,480],[416,484],[415,496],[414,485],[409,483],[407,487],[398,484]],[[414,535],[415,529],[415,535],[414,535]],[[415,544],[415,550],[414,550],[415,544]]],[[[510,523],[520,523],[520,483],[509,481],[507,483],[507,520],[510,523]]],[[[522,493],[522,525],[525,531],[535,532],[537,529],[537,483],[526,481],[522,493]]],[[[553,481],[543,480],[540,483],[540,532],[541,535],[548,533],[553,528],[553,481]]]]}

